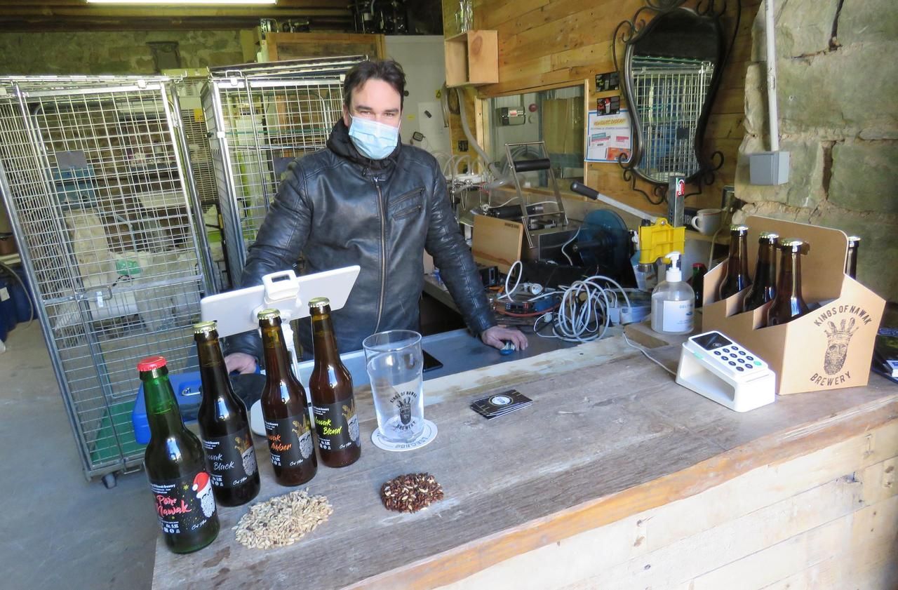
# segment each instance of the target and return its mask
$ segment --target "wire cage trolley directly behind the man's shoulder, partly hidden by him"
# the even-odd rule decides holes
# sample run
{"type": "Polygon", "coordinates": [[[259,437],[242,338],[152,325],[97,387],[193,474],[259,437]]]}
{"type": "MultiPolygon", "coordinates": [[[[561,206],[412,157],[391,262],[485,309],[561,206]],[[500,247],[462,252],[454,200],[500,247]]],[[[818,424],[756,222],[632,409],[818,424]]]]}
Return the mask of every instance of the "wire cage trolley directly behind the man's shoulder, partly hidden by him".
{"type": "Polygon", "coordinates": [[[342,115],[346,72],[364,56],[213,68],[203,110],[216,169],[225,260],[240,286],[247,249],[296,158],[323,148],[342,115]]]}

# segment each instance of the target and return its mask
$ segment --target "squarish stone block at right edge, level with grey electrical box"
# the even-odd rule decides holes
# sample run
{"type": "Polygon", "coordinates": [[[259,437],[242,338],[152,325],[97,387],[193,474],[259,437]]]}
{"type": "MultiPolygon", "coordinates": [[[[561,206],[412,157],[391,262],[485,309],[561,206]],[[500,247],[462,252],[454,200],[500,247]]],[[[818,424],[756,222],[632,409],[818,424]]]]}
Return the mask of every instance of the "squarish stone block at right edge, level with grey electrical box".
{"type": "Polygon", "coordinates": [[[832,148],[829,200],[853,211],[898,215],[898,143],[854,142],[832,148]]]}

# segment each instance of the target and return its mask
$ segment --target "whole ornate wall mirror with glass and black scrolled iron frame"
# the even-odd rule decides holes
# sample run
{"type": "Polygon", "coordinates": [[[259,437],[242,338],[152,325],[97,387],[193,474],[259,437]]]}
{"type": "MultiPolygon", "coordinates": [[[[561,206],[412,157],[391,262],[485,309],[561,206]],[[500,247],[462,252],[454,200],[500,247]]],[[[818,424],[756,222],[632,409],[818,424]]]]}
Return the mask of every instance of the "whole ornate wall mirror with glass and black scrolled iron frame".
{"type": "MultiPolygon", "coordinates": [[[[705,154],[702,138],[742,11],[740,0],[646,0],[629,21],[618,24],[612,43],[629,105],[632,150],[618,162],[624,180],[653,203],[665,198],[674,173],[699,186],[711,184],[723,154],[705,154]],[[734,14],[727,34],[728,6],[734,14]],[[649,20],[650,19],[650,20],[649,20]],[[618,61],[618,44],[625,47],[618,61]],[[654,185],[654,198],[636,188],[636,178],[654,185]]],[[[692,193],[695,194],[695,193],[692,193]]]]}

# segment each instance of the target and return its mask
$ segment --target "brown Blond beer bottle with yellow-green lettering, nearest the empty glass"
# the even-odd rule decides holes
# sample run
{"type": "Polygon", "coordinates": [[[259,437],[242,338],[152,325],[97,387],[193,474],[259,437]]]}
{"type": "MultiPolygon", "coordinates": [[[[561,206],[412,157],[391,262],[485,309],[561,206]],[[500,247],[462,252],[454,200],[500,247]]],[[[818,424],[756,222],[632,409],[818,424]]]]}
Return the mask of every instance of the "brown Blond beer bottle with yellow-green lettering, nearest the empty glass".
{"type": "Polygon", "coordinates": [[[315,357],[309,391],[312,393],[318,452],[321,462],[328,467],[344,467],[356,462],[362,454],[352,375],[339,359],[330,321],[330,301],[326,297],[316,297],[309,302],[309,308],[315,357]]]}

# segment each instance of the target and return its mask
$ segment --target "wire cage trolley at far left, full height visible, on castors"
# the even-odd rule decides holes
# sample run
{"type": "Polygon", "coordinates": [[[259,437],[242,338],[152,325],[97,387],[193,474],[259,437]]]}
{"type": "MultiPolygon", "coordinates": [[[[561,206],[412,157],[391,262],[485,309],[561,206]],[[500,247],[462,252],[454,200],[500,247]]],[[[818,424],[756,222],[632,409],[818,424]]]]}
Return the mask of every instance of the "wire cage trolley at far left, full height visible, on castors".
{"type": "Polygon", "coordinates": [[[0,78],[0,193],[88,479],[136,469],[136,362],[196,367],[215,292],[171,81],[0,78]]]}

